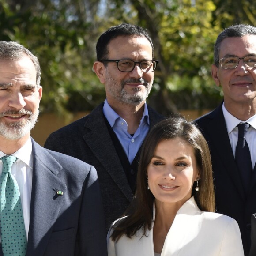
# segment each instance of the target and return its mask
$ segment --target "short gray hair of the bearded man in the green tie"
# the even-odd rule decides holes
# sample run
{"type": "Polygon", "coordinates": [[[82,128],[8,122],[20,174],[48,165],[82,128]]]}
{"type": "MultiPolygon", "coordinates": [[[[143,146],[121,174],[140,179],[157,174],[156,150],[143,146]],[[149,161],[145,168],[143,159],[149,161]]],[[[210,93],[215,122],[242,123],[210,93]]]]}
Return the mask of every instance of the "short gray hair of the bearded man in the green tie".
{"type": "Polygon", "coordinates": [[[23,56],[28,56],[34,63],[36,69],[36,83],[37,87],[39,87],[41,81],[41,68],[38,58],[23,45],[20,45],[16,42],[0,41],[0,60],[15,61],[21,59],[23,56]]]}

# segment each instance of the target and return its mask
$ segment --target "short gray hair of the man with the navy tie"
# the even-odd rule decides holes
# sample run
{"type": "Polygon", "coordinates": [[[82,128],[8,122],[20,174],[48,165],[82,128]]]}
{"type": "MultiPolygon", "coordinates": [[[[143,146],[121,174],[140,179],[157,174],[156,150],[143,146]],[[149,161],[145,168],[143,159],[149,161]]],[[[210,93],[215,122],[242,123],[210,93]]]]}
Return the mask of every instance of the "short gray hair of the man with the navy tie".
{"type": "Polygon", "coordinates": [[[238,24],[227,27],[219,35],[214,45],[214,64],[218,67],[221,42],[225,38],[241,38],[245,35],[256,35],[256,27],[245,24],[238,24]]]}

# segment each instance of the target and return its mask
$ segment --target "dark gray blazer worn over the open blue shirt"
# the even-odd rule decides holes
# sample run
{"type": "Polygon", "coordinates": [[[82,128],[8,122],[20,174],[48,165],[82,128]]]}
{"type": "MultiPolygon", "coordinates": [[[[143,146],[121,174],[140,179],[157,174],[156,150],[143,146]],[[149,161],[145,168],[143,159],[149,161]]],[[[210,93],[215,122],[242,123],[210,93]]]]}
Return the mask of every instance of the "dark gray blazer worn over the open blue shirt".
{"type": "MultiPolygon", "coordinates": [[[[102,191],[106,231],[132,201],[132,190],[106,126],[100,104],[89,115],[53,132],[45,147],[95,167],[102,191]]],[[[164,117],[148,107],[150,126],[164,117]]]]}

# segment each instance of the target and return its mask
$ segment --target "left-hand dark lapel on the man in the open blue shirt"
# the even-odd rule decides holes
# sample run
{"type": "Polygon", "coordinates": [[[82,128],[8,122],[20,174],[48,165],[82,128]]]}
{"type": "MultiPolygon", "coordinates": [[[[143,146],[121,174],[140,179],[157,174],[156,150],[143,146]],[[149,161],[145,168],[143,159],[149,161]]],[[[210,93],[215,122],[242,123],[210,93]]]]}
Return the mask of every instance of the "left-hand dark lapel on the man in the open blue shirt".
{"type": "Polygon", "coordinates": [[[102,107],[103,104],[90,113],[84,125],[87,130],[83,139],[126,198],[131,201],[132,190],[106,127],[102,107]]]}

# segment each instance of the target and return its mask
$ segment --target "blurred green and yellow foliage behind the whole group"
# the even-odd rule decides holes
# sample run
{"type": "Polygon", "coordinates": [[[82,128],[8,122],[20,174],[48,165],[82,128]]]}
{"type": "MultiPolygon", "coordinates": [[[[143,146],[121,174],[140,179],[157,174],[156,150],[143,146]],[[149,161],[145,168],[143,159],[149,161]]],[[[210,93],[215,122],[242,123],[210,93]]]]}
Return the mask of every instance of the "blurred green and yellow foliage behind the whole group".
{"type": "Polygon", "coordinates": [[[92,70],[98,36],[128,22],[147,27],[159,65],[148,102],[158,112],[214,108],[222,92],[211,78],[223,27],[255,23],[252,0],[0,0],[0,39],[38,56],[42,112],[93,109],[105,99],[92,70]],[[249,8],[250,7],[250,8],[249,8]]]}

